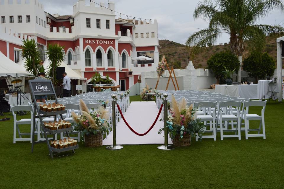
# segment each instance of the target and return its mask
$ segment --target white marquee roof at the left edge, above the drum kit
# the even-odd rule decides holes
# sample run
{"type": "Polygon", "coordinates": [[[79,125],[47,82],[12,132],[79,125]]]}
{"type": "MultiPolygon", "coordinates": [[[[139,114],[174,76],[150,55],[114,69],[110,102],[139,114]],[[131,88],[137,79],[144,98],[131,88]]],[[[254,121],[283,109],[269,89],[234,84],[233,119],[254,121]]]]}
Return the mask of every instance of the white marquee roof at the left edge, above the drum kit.
{"type": "Polygon", "coordinates": [[[12,77],[16,77],[16,74],[18,74],[18,77],[30,75],[25,71],[25,68],[10,60],[0,51],[0,76],[6,77],[7,74],[12,77]]]}

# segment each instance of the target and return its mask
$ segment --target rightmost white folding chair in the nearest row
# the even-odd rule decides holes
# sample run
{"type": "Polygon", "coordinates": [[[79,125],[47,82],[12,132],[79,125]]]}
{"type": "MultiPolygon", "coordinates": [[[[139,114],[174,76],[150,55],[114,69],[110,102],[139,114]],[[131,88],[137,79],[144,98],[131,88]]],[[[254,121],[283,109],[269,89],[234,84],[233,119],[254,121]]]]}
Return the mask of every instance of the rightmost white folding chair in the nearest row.
{"type": "Polygon", "coordinates": [[[265,111],[265,107],[266,107],[266,102],[262,101],[262,100],[251,100],[251,101],[245,101],[243,103],[243,110],[242,110],[242,115],[241,118],[244,119],[245,121],[245,133],[246,133],[246,139],[248,139],[249,137],[256,137],[256,136],[260,136],[263,137],[263,139],[265,139],[265,124],[264,124],[264,111],[265,111]],[[262,106],[262,110],[261,110],[261,115],[257,115],[257,114],[249,114],[249,110],[246,108],[244,109],[244,107],[251,107],[251,106],[262,106]],[[259,128],[257,129],[250,129],[249,128],[249,120],[260,120],[259,123],[259,128]],[[260,133],[262,128],[262,134],[260,133]],[[249,134],[250,131],[258,131],[257,134],[249,134]]]}

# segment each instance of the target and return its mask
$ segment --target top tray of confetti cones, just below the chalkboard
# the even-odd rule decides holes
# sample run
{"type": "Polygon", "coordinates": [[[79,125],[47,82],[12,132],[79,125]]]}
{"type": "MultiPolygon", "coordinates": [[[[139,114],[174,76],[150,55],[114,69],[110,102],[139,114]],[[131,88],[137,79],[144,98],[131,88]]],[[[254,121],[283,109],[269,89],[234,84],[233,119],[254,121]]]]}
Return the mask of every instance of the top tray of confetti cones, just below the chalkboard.
{"type": "Polygon", "coordinates": [[[57,114],[64,114],[67,111],[65,110],[65,106],[63,104],[41,104],[39,105],[39,112],[43,115],[57,115],[57,114]]]}

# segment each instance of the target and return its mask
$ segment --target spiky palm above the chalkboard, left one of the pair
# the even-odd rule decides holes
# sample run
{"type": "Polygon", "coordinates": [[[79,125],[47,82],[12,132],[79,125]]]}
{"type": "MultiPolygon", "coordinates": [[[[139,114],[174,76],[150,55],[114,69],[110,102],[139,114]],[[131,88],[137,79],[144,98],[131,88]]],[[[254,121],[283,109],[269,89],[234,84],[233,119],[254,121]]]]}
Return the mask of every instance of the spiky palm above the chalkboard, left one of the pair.
{"type": "Polygon", "coordinates": [[[25,59],[24,67],[26,71],[37,76],[38,70],[41,67],[41,59],[35,39],[26,39],[22,43],[22,58],[25,59]]]}

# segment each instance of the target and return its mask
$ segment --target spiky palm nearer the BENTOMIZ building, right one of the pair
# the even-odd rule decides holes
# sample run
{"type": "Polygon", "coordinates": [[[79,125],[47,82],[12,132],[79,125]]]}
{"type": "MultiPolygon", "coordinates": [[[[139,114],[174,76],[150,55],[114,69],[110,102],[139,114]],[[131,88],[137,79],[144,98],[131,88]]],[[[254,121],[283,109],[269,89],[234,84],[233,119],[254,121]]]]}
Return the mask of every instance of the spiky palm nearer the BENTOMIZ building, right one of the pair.
{"type": "Polygon", "coordinates": [[[60,63],[65,59],[63,54],[64,47],[58,43],[49,43],[46,55],[51,62],[47,67],[47,75],[52,79],[53,85],[56,82],[56,69],[60,66],[60,63]]]}

